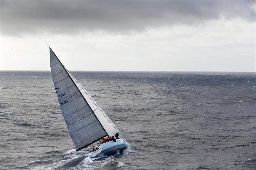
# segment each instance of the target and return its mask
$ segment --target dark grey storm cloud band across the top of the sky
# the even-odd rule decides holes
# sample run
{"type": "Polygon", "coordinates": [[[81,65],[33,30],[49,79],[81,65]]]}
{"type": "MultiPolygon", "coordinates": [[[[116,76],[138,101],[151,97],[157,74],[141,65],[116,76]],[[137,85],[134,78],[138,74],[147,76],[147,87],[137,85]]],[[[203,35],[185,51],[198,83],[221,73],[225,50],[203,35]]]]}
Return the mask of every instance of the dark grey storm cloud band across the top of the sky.
{"type": "Polygon", "coordinates": [[[255,1],[0,1],[4,34],[124,32],[225,17],[255,21],[255,1]]]}

